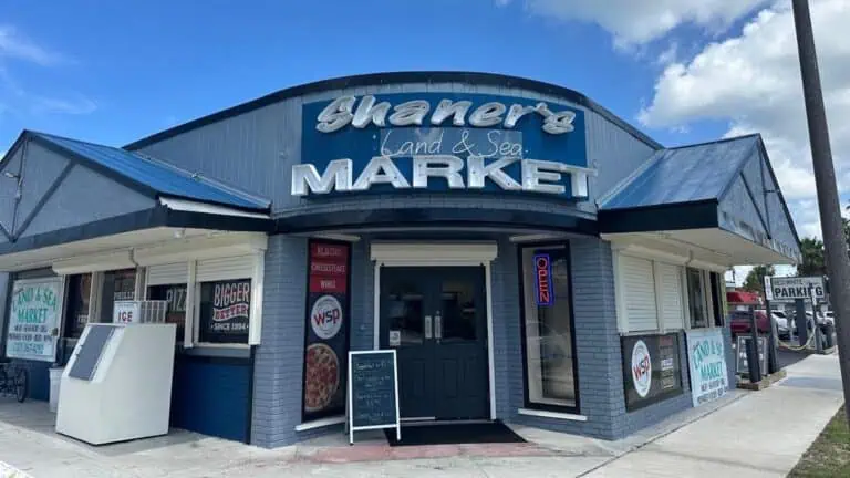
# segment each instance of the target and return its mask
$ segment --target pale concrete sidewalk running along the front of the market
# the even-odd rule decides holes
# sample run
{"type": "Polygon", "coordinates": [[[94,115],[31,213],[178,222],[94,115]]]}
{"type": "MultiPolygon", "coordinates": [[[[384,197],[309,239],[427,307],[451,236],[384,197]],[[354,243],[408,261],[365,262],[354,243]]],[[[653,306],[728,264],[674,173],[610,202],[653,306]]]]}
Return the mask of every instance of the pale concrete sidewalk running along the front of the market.
{"type": "Polygon", "coordinates": [[[735,391],[618,441],[516,427],[528,444],[397,448],[380,434],[349,447],[339,434],[267,450],[183,430],[91,447],[53,433],[46,404],[3,399],[0,461],[35,478],[779,477],[840,406],[839,377],[836,356],[810,356],[767,391],[735,391]]]}

